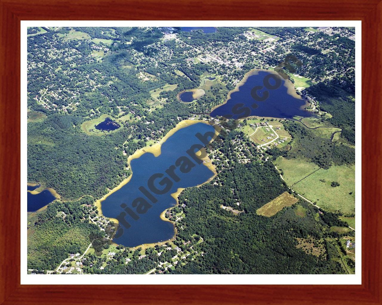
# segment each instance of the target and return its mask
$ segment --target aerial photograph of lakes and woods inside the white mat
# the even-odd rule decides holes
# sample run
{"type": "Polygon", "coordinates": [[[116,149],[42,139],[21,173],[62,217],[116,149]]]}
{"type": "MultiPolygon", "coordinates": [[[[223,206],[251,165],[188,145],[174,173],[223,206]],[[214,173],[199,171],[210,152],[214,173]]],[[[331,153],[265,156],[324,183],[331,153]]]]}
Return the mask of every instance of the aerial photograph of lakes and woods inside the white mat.
{"type": "Polygon", "coordinates": [[[24,272],[355,274],[355,28],[172,25],[26,29],[24,272]]]}

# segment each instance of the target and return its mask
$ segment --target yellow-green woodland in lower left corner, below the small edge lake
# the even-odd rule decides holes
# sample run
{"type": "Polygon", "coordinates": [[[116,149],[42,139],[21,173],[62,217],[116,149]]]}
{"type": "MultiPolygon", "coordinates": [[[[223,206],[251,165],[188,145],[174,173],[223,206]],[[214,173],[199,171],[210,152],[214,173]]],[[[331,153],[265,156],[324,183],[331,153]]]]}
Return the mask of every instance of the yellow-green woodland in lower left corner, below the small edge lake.
{"type": "Polygon", "coordinates": [[[105,236],[89,223],[89,210],[83,205],[93,202],[90,196],[56,200],[41,212],[29,213],[28,269],[54,270],[70,253],[83,253],[91,242],[89,236],[105,236]]]}

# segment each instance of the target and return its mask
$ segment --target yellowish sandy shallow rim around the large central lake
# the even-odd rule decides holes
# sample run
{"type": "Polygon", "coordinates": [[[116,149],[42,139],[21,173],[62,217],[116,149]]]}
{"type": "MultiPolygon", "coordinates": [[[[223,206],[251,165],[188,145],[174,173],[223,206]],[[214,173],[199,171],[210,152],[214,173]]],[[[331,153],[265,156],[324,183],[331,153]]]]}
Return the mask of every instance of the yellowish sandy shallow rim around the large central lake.
{"type": "MultiPolygon", "coordinates": [[[[112,193],[118,191],[118,189],[122,188],[123,186],[125,186],[130,180],[131,180],[131,177],[133,176],[133,170],[131,169],[131,160],[133,159],[138,159],[139,157],[141,157],[143,154],[145,154],[146,152],[150,152],[152,153],[155,157],[158,157],[160,154],[161,154],[161,147],[162,147],[162,144],[168,139],[170,138],[170,136],[172,136],[175,132],[177,132],[178,130],[182,129],[182,128],[185,128],[185,127],[188,127],[190,125],[194,125],[194,124],[197,124],[197,123],[203,123],[203,124],[209,124],[208,122],[206,121],[199,121],[199,120],[183,120],[181,122],[179,122],[178,124],[176,124],[176,126],[174,128],[172,128],[163,138],[162,140],[160,140],[159,142],[153,144],[152,146],[146,146],[144,148],[141,148],[141,149],[138,149],[136,152],[134,152],[134,154],[132,154],[131,156],[128,157],[127,159],[127,162],[128,162],[128,165],[129,165],[129,168],[131,170],[131,175],[126,178],[125,180],[123,180],[119,185],[117,185],[115,188],[113,188],[109,193],[105,194],[101,199],[97,199],[95,202],[94,202],[94,205],[95,207],[98,209],[99,211],[99,215],[102,215],[102,201],[104,201],[108,196],[110,196],[112,193]]],[[[219,131],[215,130],[215,137],[214,139],[212,139],[210,141],[210,143],[215,140],[215,138],[219,135],[219,131]]],[[[205,150],[205,148],[203,148],[205,150]]],[[[205,151],[204,151],[205,152],[205,151]]],[[[196,152],[196,156],[200,157],[202,155],[202,152],[201,151],[198,151],[196,152]]],[[[208,167],[209,170],[211,170],[214,175],[212,175],[211,178],[209,178],[208,180],[206,180],[204,183],[201,183],[199,185],[197,185],[196,187],[199,187],[205,183],[208,183],[209,181],[211,181],[217,174],[216,172],[216,169],[215,169],[215,166],[214,164],[212,164],[212,161],[209,159],[208,156],[204,157],[204,158],[201,158],[202,161],[206,161],[204,163],[204,165],[206,167],[208,167]]],[[[155,243],[151,243],[151,244],[142,244],[142,245],[137,245],[135,247],[142,247],[142,249],[146,249],[148,247],[153,247],[155,245],[162,245],[162,244],[165,244],[166,242],[169,242],[169,241],[173,241],[175,239],[175,236],[177,234],[177,230],[176,230],[176,226],[175,226],[175,222],[165,218],[165,212],[166,210],[169,210],[169,209],[173,209],[174,207],[178,206],[179,204],[179,201],[178,201],[178,196],[180,195],[180,193],[184,190],[184,188],[178,188],[178,190],[175,192],[175,193],[172,193],[171,196],[176,200],[176,204],[173,206],[173,207],[169,207],[169,208],[166,208],[160,215],[160,219],[164,220],[164,221],[168,221],[168,222],[171,222],[173,223],[173,226],[174,226],[174,231],[175,231],[175,234],[172,238],[166,240],[166,241],[161,241],[161,242],[155,242],[155,243]]],[[[106,217],[106,216],[104,216],[106,217]]],[[[107,217],[109,218],[115,225],[118,225],[118,220],[115,219],[115,218],[111,218],[111,217],[107,217]]],[[[117,230],[116,230],[117,231],[117,230]]],[[[113,242],[113,244],[115,244],[113,242]]],[[[135,248],[133,247],[133,248],[135,248]]]]}

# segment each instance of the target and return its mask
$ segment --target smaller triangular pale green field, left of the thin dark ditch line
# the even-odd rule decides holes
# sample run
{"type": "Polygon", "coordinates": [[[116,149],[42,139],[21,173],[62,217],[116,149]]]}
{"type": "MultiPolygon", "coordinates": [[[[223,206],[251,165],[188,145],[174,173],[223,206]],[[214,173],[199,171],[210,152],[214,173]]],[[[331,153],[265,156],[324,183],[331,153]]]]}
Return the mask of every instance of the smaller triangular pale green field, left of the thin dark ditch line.
{"type": "Polygon", "coordinates": [[[288,186],[308,176],[319,169],[319,166],[301,159],[285,159],[278,157],[275,161],[278,170],[283,172],[283,178],[288,186]]]}

